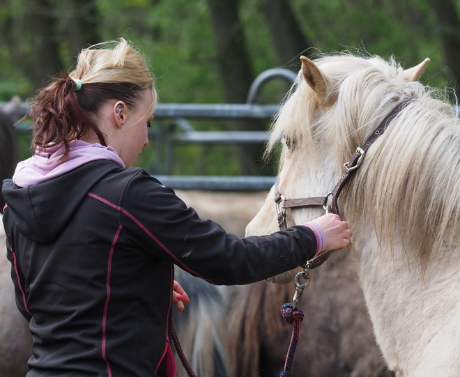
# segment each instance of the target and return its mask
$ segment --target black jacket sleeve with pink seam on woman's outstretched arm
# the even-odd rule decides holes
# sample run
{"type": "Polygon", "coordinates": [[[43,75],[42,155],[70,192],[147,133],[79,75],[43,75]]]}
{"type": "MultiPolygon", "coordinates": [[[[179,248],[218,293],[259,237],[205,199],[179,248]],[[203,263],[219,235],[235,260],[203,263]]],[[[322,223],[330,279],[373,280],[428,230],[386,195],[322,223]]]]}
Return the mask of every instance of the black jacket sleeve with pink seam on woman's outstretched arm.
{"type": "Polygon", "coordinates": [[[306,226],[238,238],[201,220],[169,187],[140,171],[126,186],[123,228],[146,252],[213,284],[249,284],[311,259],[316,237],[306,226]]]}

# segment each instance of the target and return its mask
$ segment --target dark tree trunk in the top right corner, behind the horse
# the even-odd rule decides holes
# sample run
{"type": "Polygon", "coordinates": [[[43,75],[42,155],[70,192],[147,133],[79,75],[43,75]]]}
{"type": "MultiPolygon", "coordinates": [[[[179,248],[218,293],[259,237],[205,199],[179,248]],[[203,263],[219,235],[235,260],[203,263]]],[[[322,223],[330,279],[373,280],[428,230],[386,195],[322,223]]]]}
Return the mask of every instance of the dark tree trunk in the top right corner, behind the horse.
{"type": "Polygon", "coordinates": [[[445,61],[455,80],[455,92],[460,95],[460,20],[453,0],[430,0],[436,13],[445,61]]]}

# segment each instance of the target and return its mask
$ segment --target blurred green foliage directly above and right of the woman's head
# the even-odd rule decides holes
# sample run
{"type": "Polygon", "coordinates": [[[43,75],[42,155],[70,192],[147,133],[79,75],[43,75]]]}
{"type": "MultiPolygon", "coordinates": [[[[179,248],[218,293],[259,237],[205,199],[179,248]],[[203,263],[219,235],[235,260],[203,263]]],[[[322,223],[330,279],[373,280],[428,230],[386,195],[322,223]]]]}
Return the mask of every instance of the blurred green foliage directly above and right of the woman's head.
{"type": "Polygon", "coordinates": [[[141,46],[162,102],[224,102],[206,0],[142,2],[101,0],[102,38],[141,46]]]}

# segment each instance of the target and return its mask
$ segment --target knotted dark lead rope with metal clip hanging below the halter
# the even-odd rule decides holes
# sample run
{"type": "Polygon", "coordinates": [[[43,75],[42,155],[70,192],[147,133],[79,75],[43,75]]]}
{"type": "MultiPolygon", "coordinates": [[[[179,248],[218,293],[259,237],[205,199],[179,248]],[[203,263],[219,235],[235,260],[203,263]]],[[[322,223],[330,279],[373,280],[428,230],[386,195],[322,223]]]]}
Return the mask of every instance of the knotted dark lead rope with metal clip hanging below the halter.
{"type": "Polygon", "coordinates": [[[300,327],[302,319],[304,318],[303,312],[297,308],[304,288],[310,283],[309,276],[309,262],[305,265],[303,271],[300,271],[294,282],[296,282],[296,292],[291,302],[286,302],[281,308],[281,314],[284,322],[292,325],[291,342],[289,344],[288,352],[286,355],[286,361],[284,362],[284,370],[279,372],[279,377],[290,377],[293,376],[291,372],[292,362],[294,359],[294,353],[296,352],[297,342],[300,339],[300,327]],[[300,283],[300,278],[304,279],[305,282],[300,283]]]}

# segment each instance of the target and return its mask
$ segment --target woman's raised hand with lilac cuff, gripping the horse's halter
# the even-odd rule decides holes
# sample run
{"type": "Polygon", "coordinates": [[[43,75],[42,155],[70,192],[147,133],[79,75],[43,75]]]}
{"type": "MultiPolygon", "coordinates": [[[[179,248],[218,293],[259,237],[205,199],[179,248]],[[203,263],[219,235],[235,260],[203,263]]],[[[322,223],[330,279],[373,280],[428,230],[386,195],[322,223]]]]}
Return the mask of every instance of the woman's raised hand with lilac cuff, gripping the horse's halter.
{"type": "Polygon", "coordinates": [[[326,245],[323,250],[342,249],[350,245],[348,238],[351,237],[351,230],[348,229],[348,224],[340,220],[339,215],[328,213],[313,220],[321,229],[323,229],[326,245]]]}

